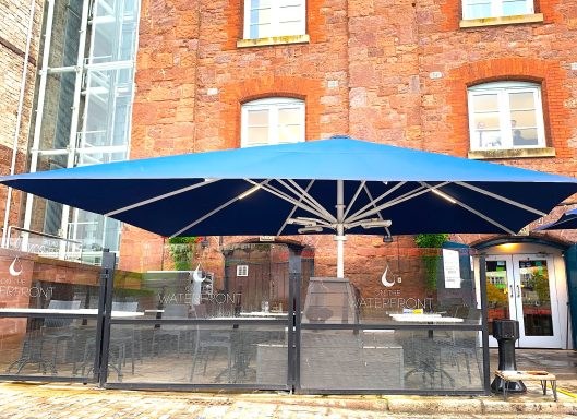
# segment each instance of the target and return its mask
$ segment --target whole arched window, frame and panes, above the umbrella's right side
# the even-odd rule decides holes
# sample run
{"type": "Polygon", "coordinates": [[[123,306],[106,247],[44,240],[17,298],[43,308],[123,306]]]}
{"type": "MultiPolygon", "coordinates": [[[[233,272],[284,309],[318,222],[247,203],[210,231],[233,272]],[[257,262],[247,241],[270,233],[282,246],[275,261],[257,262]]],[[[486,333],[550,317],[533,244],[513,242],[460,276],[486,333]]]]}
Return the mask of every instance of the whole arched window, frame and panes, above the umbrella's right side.
{"type": "Polygon", "coordinates": [[[471,149],[545,146],[540,85],[496,82],[468,93],[471,149]]]}

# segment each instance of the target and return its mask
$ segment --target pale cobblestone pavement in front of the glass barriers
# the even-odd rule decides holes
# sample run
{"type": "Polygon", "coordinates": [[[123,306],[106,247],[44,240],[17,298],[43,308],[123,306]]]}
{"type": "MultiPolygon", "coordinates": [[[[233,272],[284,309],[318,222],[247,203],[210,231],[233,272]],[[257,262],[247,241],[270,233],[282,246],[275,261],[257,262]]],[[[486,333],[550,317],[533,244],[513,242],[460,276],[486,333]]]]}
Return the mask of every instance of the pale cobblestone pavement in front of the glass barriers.
{"type": "MultiPolygon", "coordinates": [[[[287,394],[203,394],[99,390],[80,385],[0,384],[0,418],[10,419],[177,419],[177,418],[539,418],[575,417],[558,405],[515,407],[496,402],[471,410],[477,399],[442,397],[322,397],[287,394]],[[450,400],[440,407],[438,400],[450,400]],[[409,411],[402,411],[409,409],[409,411]],[[428,412],[429,409],[429,412],[428,412]],[[444,412],[447,409],[448,412],[444,412]],[[501,411],[500,411],[501,409],[501,411]],[[550,409],[550,410],[548,410],[550,409]],[[397,410],[397,411],[392,411],[397,410]],[[515,411],[517,410],[517,411],[515,411]],[[461,412],[459,412],[461,411],[461,412]]],[[[568,405],[562,402],[562,405],[568,405]]],[[[520,405],[519,405],[520,406],[520,405]]],[[[478,407],[478,406],[477,406],[478,407]]],[[[476,408],[477,408],[476,407],[476,408]]]]}

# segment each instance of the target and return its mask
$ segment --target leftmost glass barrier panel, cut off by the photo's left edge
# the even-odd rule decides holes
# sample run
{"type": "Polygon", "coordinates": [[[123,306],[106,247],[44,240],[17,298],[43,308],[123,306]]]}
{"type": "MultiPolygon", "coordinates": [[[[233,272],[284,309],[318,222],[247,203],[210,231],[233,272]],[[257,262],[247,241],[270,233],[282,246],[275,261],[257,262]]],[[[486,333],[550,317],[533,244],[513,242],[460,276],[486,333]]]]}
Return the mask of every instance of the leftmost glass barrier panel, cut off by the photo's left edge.
{"type": "Polygon", "coordinates": [[[0,250],[0,375],[91,381],[98,266],[0,250]]]}

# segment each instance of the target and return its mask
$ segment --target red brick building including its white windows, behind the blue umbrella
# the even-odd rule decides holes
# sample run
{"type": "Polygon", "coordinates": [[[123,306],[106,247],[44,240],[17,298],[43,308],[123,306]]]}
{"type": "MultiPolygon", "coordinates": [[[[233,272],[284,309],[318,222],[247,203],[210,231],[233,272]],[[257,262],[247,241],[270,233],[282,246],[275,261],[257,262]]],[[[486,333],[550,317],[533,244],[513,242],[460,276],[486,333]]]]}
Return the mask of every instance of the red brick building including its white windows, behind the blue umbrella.
{"type": "MultiPolygon", "coordinates": [[[[142,0],[137,28],[129,158],[346,134],[577,172],[577,5],[569,0],[142,0]]],[[[565,252],[576,238],[452,240],[478,247],[515,284],[521,270],[545,263],[555,339],[527,346],[566,347],[565,252]],[[520,267],[519,258],[532,264],[520,267]]],[[[314,248],[316,275],[334,275],[332,238],[292,239],[314,248]]],[[[244,240],[208,238],[205,265],[218,277],[219,246],[244,240]]],[[[160,268],[164,244],[124,225],[120,267],[160,268]]],[[[377,284],[387,260],[418,254],[411,237],[393,244],[351,237],[346,252],[346,276],[364,296],[375,288],[361,284],[377,284]]],[[[516,310],[522,316],[513,306],[509,314],[516,310]]]]}

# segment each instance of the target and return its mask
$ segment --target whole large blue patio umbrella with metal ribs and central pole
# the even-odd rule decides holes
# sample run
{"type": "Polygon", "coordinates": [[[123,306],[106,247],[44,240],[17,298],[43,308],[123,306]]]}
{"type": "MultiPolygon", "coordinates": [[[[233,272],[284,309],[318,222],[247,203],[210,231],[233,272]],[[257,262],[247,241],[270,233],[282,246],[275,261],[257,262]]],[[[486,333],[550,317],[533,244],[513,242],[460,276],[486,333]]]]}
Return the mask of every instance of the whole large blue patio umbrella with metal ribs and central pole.
{"type": "Polygon", "coordinates": [[[161,236],[514,235],[577,179],[349,137],[76,167],[1,183],[161,236]]]}

